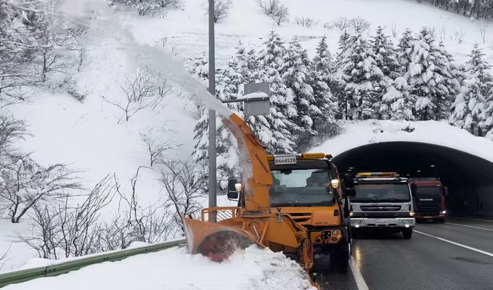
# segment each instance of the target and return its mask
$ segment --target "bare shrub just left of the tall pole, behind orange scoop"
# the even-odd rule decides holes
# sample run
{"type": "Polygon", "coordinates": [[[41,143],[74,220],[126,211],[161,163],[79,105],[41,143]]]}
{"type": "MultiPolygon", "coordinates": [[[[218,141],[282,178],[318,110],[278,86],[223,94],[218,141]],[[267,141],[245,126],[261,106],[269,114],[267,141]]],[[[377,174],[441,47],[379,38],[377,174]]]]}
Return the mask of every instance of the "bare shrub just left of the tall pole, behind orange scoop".
{"type": "Polygon", "coordinates": [[[164,204],[173,208],[175,223],[183,223],[181,216],[196,217],[201,209],[200,199],[205,195],[205,176],[190,160],[167,160],[160,169],[164,188],[164,204]]]}

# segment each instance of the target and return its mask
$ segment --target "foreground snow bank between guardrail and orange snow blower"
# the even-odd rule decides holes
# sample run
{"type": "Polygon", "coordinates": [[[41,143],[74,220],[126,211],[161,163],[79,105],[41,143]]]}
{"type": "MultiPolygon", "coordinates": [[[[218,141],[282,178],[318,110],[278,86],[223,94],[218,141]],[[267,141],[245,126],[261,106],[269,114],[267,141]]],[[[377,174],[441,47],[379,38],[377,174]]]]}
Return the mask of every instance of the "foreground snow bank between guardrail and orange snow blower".
{"type": "Polygon", "coordinates": [[[252,246],[236,253],[226,263],[213,263],[203,256],[186,254],[185,248],[175,247],[4,289],[313,290],[314,287],[294,261],[283,254],[252,246]]]}

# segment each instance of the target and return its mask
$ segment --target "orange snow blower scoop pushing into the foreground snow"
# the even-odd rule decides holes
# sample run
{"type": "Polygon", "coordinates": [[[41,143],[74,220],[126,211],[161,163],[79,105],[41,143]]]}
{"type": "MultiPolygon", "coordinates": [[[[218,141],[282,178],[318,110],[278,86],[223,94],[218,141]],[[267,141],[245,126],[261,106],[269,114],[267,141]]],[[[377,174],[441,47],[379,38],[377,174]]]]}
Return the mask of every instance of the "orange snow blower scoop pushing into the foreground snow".
{"type": "Polygon", "coordinates": [[[183,220],[190,254],[202,254],[211,261],[223,262],[236,250],[244,249],[255,243],[264,247],[240,228],[198,219],[184,218],[183,220]]]}

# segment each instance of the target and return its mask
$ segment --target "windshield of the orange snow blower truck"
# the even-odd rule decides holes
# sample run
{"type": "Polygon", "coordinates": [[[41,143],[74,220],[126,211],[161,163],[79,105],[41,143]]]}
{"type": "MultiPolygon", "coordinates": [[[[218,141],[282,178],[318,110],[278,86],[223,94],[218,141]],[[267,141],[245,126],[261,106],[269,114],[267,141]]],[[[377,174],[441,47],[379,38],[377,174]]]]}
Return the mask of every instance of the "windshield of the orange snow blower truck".
{"type": "Polygon", "coordinates": [[[325,187],[330,183],[325,169],[273,170],[272,174],[272,206],[333,206],[333,194],[325,187]]]}

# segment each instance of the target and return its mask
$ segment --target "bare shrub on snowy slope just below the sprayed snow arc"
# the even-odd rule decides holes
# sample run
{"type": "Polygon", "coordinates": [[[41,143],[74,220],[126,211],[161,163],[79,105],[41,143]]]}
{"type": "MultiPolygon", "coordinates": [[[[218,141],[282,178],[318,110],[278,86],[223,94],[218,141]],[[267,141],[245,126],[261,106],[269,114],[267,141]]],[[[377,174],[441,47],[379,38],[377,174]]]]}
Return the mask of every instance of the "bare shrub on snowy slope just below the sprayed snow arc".
{"type": "Polygon", "coordinates": [[[155,109],[170,92],[166,79],[148,67],[139,67],[136,75],[126,76],[121,89],[125,93],[123,100],[103,97],[105,101],[123,111],[123,114],[117,117],[118,123],[123,119],[129,121],[130,117],[145,108],[155,109]]]}

